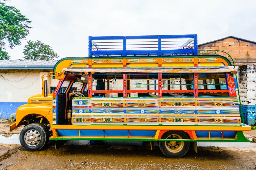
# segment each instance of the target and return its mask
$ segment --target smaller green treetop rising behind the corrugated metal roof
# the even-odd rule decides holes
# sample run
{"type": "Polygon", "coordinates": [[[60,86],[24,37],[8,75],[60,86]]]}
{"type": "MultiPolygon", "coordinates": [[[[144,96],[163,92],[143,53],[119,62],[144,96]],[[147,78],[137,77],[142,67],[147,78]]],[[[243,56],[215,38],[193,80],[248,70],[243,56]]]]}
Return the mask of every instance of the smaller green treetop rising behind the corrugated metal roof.
{"type": "Polygon", "coordinates": [[[40,41],[28,41],[28,45],[24,47],[23,58],[25,60],[51,60],[58,58],[59,55],[54,53],[51,49],[51,46],[48,46],[40,41]]]}

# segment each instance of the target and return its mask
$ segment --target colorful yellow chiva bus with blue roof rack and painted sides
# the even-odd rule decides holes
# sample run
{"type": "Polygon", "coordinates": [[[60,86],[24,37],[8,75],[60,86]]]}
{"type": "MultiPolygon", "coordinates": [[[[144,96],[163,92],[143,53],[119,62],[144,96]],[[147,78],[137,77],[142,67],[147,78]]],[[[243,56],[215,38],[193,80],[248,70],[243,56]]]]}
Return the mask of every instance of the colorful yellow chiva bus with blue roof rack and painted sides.
{"type": "Polygon", "coordinates": [[[196,34],[89,37],[89,57],[58,61],[42,76],[43,96],[19,107],[10,129],[25,124],[27,150],[49,139],[56,148],[67,140],[146,141],[180,158],[199,141],[248,141],[235,75],[227,57],[198,55],[196,34]],[[51,77],[59,83],[48,94],[51,77]]]}

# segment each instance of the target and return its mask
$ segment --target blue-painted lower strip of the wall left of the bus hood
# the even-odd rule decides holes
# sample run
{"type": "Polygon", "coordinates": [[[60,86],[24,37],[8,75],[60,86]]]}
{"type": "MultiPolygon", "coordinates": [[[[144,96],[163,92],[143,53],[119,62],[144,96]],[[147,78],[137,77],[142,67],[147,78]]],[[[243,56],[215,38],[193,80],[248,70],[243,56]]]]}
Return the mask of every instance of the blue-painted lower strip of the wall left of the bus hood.
{"type": "Polygon", "coordinates": [[[0,119],[10,119],[11,114],[16,113],[18,107],[23,104],[27,102],[0,102],[0,119]]]}

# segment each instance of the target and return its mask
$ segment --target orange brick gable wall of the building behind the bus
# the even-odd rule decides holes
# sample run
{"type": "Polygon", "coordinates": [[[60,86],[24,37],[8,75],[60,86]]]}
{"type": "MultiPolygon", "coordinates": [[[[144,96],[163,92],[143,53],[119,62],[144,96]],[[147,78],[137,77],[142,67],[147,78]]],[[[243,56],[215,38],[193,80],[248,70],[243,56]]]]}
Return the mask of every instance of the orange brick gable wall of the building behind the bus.
{"type": "MultiPolygon", "coordinates": [[[[209,44],[198,46],[199,50],[222,50],[231,55],[236,63],[255,63],[256,62],[256,44],[246,42],[235,38],[222,39],[209,44]]],[[[209,51],[212,52],[212,51],[209,51]]],[[[223,56],[227,56],[223,52],[217,52],[223,56]]]]}

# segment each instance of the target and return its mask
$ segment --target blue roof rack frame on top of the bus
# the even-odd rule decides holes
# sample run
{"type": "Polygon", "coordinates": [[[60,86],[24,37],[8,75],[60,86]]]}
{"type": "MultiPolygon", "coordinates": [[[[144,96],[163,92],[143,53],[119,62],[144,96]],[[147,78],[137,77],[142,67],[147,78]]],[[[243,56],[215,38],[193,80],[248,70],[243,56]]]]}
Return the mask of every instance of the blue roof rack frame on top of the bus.
{"type": "Polygon", "coordinates": [[[89,37],[89,57],[173,55],[197,55],[197,34],[89,37]]]}

